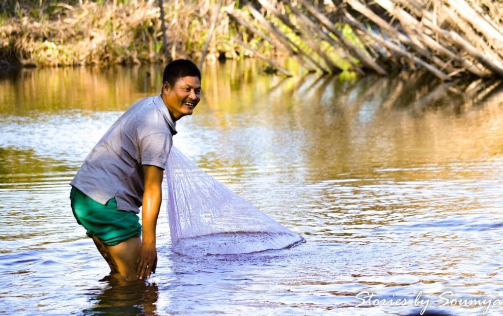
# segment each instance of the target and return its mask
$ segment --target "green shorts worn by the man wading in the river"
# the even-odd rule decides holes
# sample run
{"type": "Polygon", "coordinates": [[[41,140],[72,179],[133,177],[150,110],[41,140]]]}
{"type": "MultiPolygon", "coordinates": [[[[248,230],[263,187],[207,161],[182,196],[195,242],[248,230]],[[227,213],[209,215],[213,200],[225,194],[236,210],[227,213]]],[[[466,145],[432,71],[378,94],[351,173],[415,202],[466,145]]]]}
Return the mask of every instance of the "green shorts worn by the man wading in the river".
{"type": "Polygon", "coordinates": [[[96,236],[105,245],[115,246],[131,237],[141,236],[138,215],[118,210],[115,198],[103,205],[71,187],[70,201],[73,216],[87,229],[87,235],[96,236]]]}

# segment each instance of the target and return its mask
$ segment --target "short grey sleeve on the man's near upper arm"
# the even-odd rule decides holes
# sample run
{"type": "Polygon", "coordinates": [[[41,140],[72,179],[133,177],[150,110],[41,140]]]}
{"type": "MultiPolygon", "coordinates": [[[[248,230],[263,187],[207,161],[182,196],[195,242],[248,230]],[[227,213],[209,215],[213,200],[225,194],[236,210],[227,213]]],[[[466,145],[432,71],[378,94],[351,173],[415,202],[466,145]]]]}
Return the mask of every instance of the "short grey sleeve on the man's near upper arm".
{"type": "Polygon", "coordinates": [[[170,154],[172,138],[170,133],[153,133],[140,139],[140,164],[165,169],[170,154]]]}

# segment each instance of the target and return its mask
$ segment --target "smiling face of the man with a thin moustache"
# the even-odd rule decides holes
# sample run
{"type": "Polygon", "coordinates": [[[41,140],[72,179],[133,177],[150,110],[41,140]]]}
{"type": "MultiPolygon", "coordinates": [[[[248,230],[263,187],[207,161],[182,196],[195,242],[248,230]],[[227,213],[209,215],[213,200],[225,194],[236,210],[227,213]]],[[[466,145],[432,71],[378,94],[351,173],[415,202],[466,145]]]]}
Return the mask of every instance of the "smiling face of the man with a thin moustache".
{"type": "Polygon", "coordinates": [[[161,96],[173,120],[178,121],[191,115],[201,100],[201,81],[197,76],[180,77],[173,87],[165,81],[161,96]]]}

